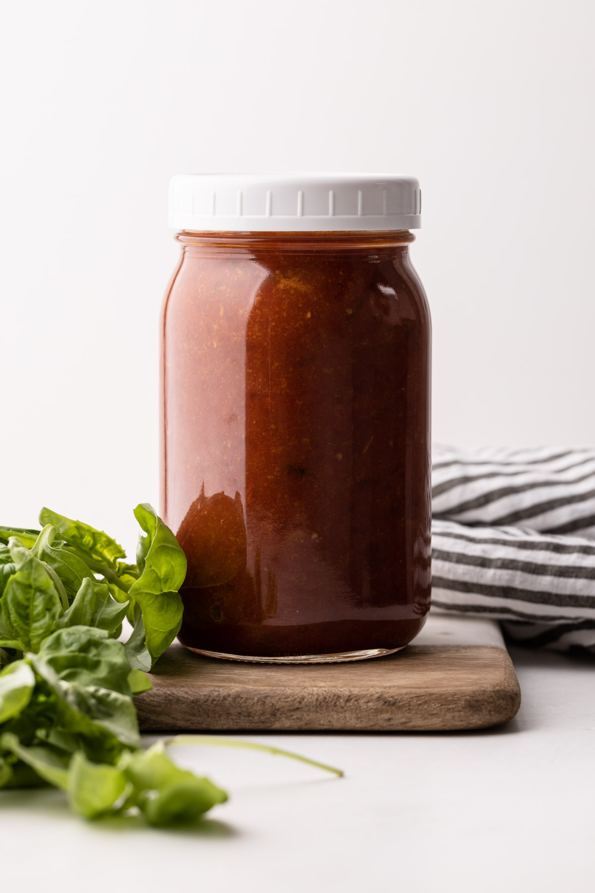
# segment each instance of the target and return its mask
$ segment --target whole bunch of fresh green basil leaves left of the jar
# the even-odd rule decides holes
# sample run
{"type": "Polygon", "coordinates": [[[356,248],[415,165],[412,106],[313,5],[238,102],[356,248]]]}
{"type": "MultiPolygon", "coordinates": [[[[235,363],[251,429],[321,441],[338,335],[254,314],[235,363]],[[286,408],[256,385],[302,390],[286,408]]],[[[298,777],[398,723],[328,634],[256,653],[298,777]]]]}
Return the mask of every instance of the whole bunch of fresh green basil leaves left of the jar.
{"type": "Polygon", "coordinates": [[[194,821],[227,799],[140,746],[133,695],[178,634],[186,555],[138,505],[137,563],[88,524],[42,509],[42,530],[0,528],[0,788],[50,784],[88,819],[136,809],[194,821]],[[117,638],[135,621],[126,645],[117,638]]]}

